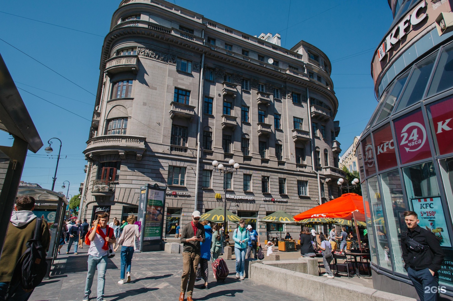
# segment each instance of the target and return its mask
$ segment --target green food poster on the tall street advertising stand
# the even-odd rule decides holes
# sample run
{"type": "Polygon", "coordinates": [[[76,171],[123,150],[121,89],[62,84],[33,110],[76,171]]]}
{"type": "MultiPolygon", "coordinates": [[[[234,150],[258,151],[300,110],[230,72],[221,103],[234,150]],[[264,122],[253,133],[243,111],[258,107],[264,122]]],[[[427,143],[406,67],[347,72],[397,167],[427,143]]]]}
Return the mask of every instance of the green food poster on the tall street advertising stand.
{"type": "Polygon", "coordinates": [[[165,191],[163,190],[152,188],[148,190],[143,240],[160,240],[164,218],[164,196],[165,191]]]}

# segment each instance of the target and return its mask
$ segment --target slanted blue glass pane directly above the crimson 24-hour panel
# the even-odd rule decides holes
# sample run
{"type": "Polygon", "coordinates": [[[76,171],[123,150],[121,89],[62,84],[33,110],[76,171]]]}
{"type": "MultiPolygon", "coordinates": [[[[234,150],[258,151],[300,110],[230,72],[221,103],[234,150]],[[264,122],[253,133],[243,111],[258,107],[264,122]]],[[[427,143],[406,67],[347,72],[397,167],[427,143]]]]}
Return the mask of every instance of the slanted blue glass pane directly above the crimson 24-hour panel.
{"type": "Polygon", "coordinates": [[[411,104],[418,103],[423,98],[423,93],[435,61],[436,53],[433,53],[415,65],[398,104],[398,111],[411,104]]]}

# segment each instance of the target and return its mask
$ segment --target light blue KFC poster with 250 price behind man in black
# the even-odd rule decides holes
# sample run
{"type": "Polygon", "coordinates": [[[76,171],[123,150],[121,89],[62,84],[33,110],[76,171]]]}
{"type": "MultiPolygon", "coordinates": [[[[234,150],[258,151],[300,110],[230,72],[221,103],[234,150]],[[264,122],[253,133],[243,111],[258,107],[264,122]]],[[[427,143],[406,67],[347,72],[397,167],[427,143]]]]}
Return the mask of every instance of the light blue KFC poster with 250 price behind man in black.
{"type": "Polygon", "coordinates": [[[442,247],[452,246],[440,197],[414,198],[412,208],[419,215],[420,227],[433,232],[442,247]]]}

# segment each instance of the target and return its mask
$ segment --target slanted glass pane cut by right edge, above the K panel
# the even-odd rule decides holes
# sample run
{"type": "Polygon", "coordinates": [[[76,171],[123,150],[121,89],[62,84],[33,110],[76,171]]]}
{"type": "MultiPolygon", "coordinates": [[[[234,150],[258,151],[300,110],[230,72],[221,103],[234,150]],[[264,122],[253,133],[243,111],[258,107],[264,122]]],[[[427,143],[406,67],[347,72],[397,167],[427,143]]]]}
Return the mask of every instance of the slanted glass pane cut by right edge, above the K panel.
{"type": "Polygon", "coordinates": [[[442,49],[428,96],[439,93],[453,85],[453,43],[442,49]]]}

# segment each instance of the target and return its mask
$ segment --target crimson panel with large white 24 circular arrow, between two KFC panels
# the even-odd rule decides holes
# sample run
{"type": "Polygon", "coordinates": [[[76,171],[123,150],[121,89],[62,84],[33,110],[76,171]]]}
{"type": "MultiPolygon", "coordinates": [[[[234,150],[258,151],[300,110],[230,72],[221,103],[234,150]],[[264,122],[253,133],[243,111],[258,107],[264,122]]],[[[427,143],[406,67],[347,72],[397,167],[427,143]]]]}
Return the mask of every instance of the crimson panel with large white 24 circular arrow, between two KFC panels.
{"type": "Polygon", "coordinates": [[[420,109],[395,120],[401,164],[431,157],[428,135],[420,109]]]}

